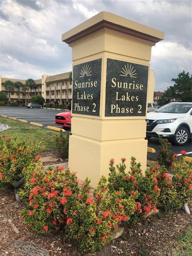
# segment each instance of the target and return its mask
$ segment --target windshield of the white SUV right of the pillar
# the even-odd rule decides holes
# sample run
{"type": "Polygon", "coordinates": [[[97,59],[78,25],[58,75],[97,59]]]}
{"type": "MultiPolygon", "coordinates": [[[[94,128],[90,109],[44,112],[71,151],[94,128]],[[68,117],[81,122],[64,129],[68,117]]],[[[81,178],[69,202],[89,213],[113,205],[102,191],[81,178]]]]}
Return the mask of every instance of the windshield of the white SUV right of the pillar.
{"type": "Polygon", "coordinates": [[[183,104],[171,103],[158,108],[157,110],[155,110],[155,112],[184,114],[184,113],[187,113],[191,107],[192,107],[191,103],[183,103],[183,104]]]}

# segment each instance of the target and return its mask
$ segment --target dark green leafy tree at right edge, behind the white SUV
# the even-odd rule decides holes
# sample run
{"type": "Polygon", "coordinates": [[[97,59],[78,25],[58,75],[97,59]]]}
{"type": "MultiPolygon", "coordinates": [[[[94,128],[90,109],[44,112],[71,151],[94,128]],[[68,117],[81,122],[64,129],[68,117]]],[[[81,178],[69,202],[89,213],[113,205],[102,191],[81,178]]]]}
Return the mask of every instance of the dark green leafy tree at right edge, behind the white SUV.
{"type": "MultiPolygon", "coordinates": [[[[192,86],[192,75],[189,76],[189,72],[185,74],[185,71],[179,73],[178,78],[173,78],[173,86],[175,92],[176,101],[191,102],[191,86],[192,86]]],[[[172,86],[170,86],[172,87],[172,86]]]]}

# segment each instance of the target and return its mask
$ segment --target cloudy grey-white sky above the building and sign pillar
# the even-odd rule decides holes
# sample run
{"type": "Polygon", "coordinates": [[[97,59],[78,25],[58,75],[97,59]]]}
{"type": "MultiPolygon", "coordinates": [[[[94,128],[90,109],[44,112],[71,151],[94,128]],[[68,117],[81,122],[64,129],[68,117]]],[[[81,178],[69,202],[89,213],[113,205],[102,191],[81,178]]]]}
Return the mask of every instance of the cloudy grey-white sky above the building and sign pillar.
{"type": "Polygon", "coordinates": [[[72,49],[61,35],[101,11],[165,33],[152,47],[155,91],[173,86],[183,70],[191,75],[191,0],[0,0],[1,77],[36,80],[72,71],[72,49]]]}

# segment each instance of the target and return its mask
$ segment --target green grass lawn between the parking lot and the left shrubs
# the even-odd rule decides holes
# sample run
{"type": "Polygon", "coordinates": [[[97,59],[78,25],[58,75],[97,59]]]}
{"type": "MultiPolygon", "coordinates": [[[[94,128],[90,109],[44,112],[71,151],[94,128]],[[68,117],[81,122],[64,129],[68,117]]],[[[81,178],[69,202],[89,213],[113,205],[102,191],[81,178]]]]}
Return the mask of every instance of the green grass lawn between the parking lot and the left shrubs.
{"type": "Polygon", "coordinates": [[[55,149],[55,135],[54,131],[49,129],[37,128],[37,126],[29,125],[27,123],[19,122],[9,118],[0,116],[0,123],[7,124],[10,127],[21,127],[21,128],[12,128],[1,131],[1,135],[6,135],[6,137],[17,136],[18,140],[28,141],[29,138],[35,143],[38,141],[43,141],[44,149],[42,151],[50,151],[55,149]],[[37,128],[37,129],[35,129],[37,128]]]}

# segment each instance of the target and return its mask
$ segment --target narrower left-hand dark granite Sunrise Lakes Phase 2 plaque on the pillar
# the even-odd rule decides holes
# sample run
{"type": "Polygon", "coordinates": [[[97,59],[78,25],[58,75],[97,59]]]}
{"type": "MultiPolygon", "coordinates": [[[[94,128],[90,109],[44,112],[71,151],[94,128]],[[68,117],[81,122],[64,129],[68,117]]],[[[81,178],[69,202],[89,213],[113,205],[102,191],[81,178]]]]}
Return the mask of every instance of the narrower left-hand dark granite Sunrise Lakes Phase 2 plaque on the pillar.
{"type": "Polygon", "coordinates": [[[102,59],[73,66],[72,113],[100,116],[102,59]]]}

